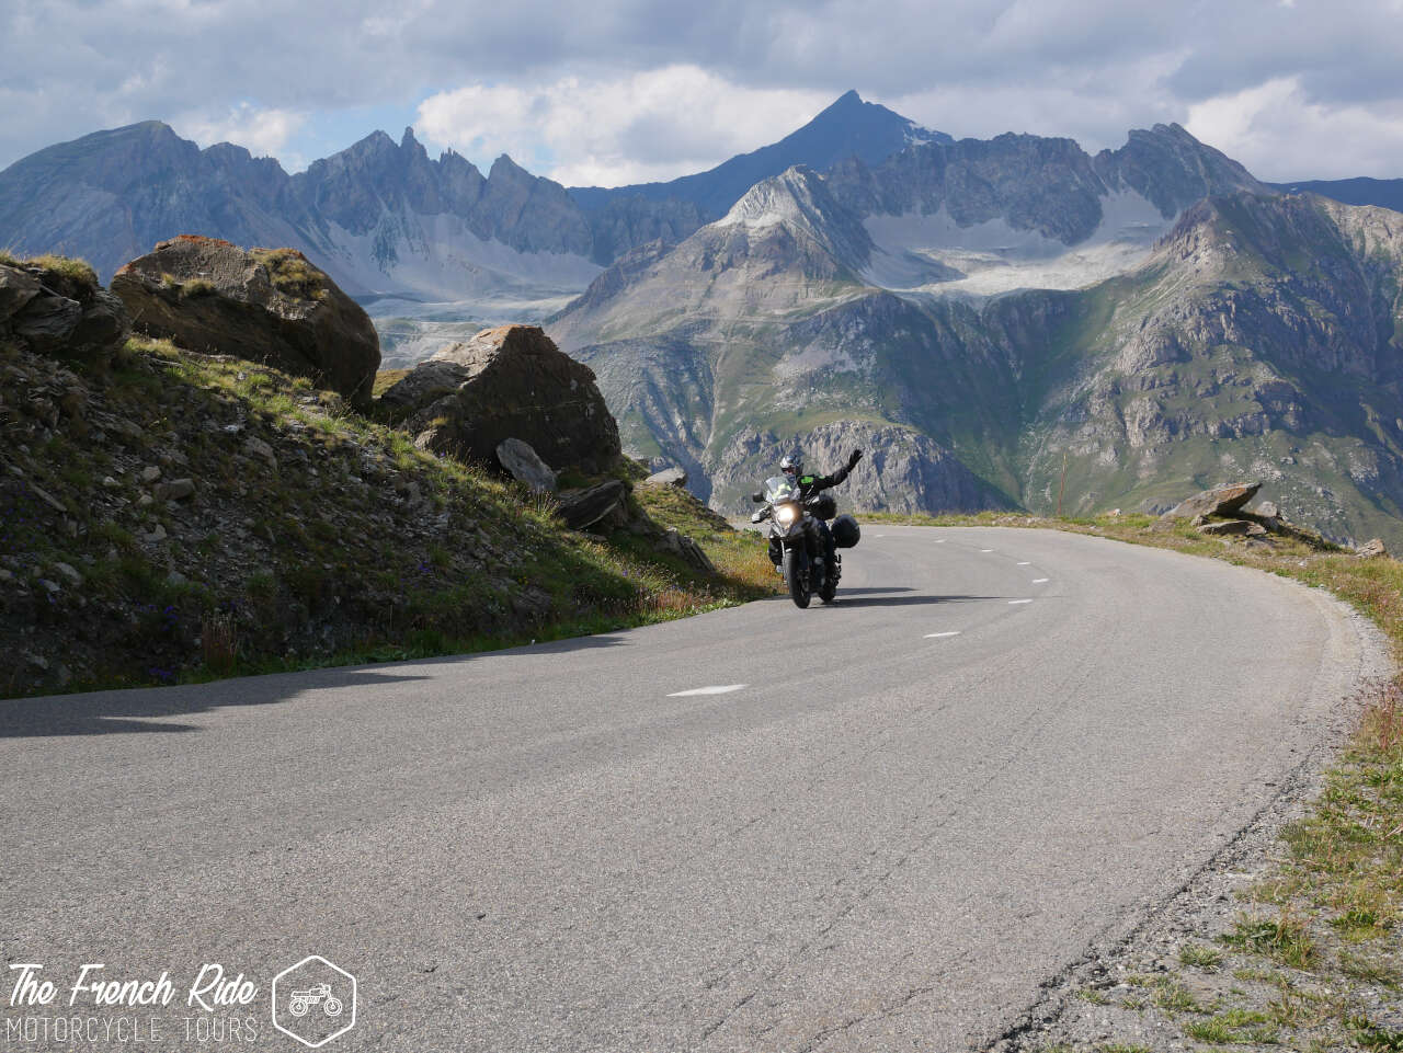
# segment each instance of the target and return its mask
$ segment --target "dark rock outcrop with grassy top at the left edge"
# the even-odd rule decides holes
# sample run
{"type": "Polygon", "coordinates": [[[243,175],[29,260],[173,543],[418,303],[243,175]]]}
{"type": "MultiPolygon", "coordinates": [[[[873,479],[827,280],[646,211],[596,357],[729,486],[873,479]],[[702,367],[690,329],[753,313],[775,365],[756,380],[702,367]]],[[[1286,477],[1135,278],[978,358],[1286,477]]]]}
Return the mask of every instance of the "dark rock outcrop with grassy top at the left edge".
{"type": "Polygon", "coordinates": [[[73,261],[0,262],[0,344],[39,355],[105,366],[126,341],[122,301],[73,261]]]}

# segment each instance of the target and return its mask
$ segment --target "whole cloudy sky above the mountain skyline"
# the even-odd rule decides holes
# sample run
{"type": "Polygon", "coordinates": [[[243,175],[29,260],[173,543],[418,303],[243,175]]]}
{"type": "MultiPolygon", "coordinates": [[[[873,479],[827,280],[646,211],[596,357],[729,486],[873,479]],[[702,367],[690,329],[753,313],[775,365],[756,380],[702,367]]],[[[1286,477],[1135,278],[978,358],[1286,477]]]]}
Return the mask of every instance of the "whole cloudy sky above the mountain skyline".
{"type": "Polygon", "coordinates": [[[1403,177],[1403,0],[18,0],[0,165],[161,119],[289,168],[412,125],[481,167],[664,179],[847,88],[955,136],[1177,121],[1268,179],[1403,177]]]}

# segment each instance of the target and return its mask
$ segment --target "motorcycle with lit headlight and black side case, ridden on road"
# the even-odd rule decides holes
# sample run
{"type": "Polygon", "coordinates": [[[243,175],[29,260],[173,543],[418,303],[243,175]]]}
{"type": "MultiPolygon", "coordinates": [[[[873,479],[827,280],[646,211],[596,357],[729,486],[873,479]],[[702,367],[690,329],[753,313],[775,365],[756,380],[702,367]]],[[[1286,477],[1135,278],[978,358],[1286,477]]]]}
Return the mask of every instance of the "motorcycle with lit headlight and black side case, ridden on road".
{"type": "MultiPolygon", "coordinates": [[[[751,499],[765,505],[751,516],[751,522],[770,522],[770,561],[784,575],[794,606],[807,607],[815,592],[824,603],[832,603],[843,576],[843,557],[835,551],[832,561],[828,561],[818,522],[838,516],[833,496],[815,494],[804,499],[798,484],[791,478],[772,475],[765,480],[765,489],[752,494],[751,499]],[[817,552],[817,557],[811,552],[817,552]]],[[[857,520],[838,516],[832,533],[838,548],[852,548],[860,536],[857,520]]]]}

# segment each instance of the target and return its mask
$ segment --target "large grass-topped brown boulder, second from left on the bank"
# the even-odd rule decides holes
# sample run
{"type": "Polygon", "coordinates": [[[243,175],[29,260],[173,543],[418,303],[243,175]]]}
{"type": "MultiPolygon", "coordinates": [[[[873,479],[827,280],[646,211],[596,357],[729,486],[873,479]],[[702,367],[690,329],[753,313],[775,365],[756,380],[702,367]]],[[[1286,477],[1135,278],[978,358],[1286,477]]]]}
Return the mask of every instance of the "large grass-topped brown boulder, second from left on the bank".
{"type": "Polygon", "coordinates": [[[182,234],[118,271],[112,292],[153,337],[276,366],[370,404],[380,338],[361,306],[296,250],[182,234]]]}

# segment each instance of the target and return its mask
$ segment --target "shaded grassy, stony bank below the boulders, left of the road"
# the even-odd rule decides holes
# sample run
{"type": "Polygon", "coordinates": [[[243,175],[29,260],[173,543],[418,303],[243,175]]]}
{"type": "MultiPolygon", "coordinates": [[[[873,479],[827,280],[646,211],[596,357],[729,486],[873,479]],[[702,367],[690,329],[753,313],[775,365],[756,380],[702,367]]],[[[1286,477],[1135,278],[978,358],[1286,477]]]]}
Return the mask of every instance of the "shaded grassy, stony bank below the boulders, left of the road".
{"type": "Polygon", "coordinates": [[[571,531],[306,380],[166,341],[91,374],[0,346],[0,697],[469,653],[774,590],[763,543],[683,491],[571,531]]]}

